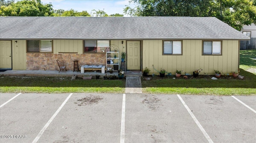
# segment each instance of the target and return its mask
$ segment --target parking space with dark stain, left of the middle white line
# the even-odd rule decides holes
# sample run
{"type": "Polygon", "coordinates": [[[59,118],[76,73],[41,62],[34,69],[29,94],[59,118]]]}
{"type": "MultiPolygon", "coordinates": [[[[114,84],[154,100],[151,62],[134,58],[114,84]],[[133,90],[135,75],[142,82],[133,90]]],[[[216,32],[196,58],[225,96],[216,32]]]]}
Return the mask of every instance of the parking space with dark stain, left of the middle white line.
{"type": "Polygon", "coordinates": [[[73,94],[38,143],[118,143],[122,94],[73,94]]]}

